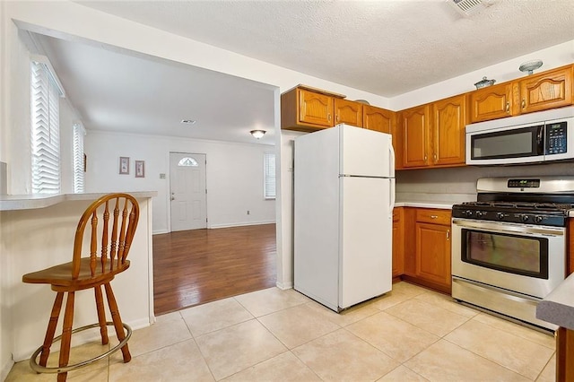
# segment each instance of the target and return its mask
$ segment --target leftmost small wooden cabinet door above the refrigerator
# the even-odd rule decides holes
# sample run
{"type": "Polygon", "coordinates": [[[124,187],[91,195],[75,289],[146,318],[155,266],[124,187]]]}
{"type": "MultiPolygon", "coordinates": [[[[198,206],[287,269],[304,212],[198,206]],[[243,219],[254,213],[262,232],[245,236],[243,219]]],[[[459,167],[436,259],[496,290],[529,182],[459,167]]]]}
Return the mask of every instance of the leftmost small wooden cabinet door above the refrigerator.
{"type": "Polygon", "coordinates": [[[302,89],[297,91],[299,92],[300,122],[317,126],[334,126],[333,97],[302,89]]]}

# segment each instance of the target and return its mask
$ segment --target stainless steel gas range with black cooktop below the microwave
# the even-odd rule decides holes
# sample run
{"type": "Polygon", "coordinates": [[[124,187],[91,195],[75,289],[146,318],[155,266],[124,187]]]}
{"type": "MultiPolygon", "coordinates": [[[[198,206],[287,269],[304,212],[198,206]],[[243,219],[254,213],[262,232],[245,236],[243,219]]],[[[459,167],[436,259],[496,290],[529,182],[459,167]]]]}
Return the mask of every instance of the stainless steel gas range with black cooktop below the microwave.
{"type": "Polygon", "coordinates": [[[452,297],[555,330],[535,310],[566,276],[574,177],[480,178],[477,191],[453,205],[452,297]]]}

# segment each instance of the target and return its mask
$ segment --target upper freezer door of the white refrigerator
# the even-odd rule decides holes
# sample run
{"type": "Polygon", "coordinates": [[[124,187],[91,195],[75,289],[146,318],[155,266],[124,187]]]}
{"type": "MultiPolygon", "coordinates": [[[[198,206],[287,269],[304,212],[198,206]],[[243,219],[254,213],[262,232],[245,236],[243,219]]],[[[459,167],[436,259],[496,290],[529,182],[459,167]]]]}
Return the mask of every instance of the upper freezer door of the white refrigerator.
{"type": "Polygon", "coordinates": [[[361,177],[395,177],[391,135],[349,125],[339,129],[340,173],[361,177]]]}

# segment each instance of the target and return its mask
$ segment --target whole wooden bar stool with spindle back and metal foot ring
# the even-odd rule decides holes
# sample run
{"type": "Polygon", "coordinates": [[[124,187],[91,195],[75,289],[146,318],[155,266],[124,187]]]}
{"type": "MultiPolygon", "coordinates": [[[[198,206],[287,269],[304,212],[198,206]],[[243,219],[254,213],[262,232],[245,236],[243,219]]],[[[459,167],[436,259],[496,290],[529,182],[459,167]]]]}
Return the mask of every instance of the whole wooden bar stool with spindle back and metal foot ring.
{"type": "Polygon", "coordinates": [[[114,279],[117,273],[124,272],[129,267],[127,254],[132,244],[138,221],[139,205],[134,196],[127,194],[102,196],[86,209],[78,222],[72,262],[22,276],[22,282],[50,284],[52,291],[57,292],[54,307],[48,321],[48,330],[46,331],[44,343],[30,358],[31,369],[39,373],[58,373],[57,380],[65,381],[68,371],[82,368],[92,362],[109,357],[109,355],[117,352],[119,349],[122,350],[124,362],[131,360],[132,357],[127,348],[127,341],[132,335],[132,329],[122,323],[114,292],[109,282],[114,279]],[[90,240],[90,254],[83,257],[84,238],[90,240]],[[102,285],[106,291],[112,321],[106,321],[101,292],[102,285]],[[75,292],[90,288],[93,288],[95,292],[98,323],[73,330],[75,292]],[[65,293],[67,293],[67,297],[62,334],[54,338],[65,293]],[[68,365],[72,334],[100,326],[101,343],[107,344],[109,343],[108,326],[112,325],[115,327],[119,341],[117,346],[91,360],[68,365]],[[126,329],[126,332],[124,329],[126,329]],[[48,368],[46,364],[50,347],[52,343],[58,340],[61,340],[59,366],[57,368],[48,368]],[[36,359],[39,354],[39,362],[37,362],[36,359]]]}

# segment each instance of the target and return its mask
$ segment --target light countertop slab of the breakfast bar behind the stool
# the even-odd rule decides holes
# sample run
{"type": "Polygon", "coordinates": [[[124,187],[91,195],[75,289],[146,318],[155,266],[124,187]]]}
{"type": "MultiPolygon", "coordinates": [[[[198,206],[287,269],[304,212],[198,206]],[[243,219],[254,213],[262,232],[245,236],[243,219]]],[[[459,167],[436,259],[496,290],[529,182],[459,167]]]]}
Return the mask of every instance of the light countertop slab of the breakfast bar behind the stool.
{"type": "MultiPolygon", "coordinates": [[[[123,192],[123,191],[122,191],[123,192]]],[[[127,194],[134,197],[157,196],[157,191],[136,191],[127,194]]],[[[0,195],[0,211],[34,210],[74,200],[96,200],[109,193],[57,194],[57,195],[0,195]]]]}

